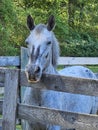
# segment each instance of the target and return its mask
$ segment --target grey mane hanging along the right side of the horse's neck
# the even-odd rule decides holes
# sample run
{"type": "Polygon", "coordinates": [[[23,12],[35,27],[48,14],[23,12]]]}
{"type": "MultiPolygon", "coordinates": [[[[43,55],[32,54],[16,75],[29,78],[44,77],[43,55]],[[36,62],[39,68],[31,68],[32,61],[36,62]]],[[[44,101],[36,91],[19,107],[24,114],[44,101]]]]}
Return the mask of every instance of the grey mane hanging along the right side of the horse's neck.
{"type": "Polygon", "coordinates": [[[53,43],[52,44],[53,44],[52,45],[52,65],[54,66],[54,68],[56,68],[57,63],[58,63],[58,58],[60,55],[60,48],[59,48],[58,40],[56,39],[54,33],[53,33],[53,43]]]}

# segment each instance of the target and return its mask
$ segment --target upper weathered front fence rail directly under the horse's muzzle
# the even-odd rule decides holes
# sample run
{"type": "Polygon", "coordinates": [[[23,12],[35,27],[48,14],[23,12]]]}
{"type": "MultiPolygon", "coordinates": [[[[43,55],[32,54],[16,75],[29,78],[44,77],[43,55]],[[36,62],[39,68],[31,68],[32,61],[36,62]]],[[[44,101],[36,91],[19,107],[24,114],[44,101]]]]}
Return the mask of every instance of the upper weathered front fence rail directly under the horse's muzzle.
{"type": "Polygon", "coordinates": [[[49,89],[68,93],[98,96],[98,80],[43,74],[39,83],[28,83],[25,72],[20,74],[22,86],[49,89]]]}

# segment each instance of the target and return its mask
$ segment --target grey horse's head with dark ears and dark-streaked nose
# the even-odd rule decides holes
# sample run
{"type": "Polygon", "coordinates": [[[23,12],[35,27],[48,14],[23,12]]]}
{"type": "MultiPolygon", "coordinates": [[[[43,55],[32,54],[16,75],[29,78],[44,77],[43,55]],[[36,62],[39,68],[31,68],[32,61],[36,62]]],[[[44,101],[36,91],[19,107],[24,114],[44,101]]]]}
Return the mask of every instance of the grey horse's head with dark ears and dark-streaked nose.
{"type": "Polygon", "coordinates": [[[29,15],[27,25],[30,29],[30,35],[25,40],[29,57],[26,75],[28,81],[38,82],[49,65],[55,67],[57,64],[59,47],[52,32],[55,26],[55,18],[50,16],[47,25],[35,25],[33,18],[29,15]]]}

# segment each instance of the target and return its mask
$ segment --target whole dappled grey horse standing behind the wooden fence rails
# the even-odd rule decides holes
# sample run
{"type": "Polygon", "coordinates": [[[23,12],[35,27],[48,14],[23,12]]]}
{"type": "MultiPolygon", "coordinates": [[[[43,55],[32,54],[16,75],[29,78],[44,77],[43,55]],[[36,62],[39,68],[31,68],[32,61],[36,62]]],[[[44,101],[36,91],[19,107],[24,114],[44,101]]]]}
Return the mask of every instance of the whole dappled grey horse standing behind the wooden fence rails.
{"type": "MultiPolygon", "coordinates": [[[[29,15],[27,17],[27,25],[30,29],[30,35],[25,41],[28,47],[29,57],[25,69],[28,82],[36,83],[40,81],[43,73],[96,79],[95,74],[83,66],[66,67],[59,72],[57,71],[56,67],[60,49],[59,43],[52,31],[55,26],[55,18],[53,15],[49,17],[47,25],[35,25],[33,18],[29,15]]],[[[95,107],[95,100],[96,97],[91,96],[27,88],[23,102],[30,105],[72,112],[96,113],[97,106],[95,107]]],[[[24,121],[23,125],[23,130],[66,129],[67,128],[35,121],[24,121]]]]}

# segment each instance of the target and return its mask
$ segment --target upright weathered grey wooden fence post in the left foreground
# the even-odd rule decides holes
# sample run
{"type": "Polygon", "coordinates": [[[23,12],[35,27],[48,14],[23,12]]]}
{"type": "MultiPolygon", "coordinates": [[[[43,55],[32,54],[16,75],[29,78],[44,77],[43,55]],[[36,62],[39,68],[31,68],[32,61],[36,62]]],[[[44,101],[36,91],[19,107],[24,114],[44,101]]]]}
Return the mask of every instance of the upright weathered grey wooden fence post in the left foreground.
{"type": "Polygon", "coordinates": [[[18,70],[6,69],[4,102],[3,102],[3,130],[16,129],[16,108],[18,91],[18,70]]]}

